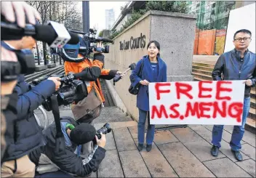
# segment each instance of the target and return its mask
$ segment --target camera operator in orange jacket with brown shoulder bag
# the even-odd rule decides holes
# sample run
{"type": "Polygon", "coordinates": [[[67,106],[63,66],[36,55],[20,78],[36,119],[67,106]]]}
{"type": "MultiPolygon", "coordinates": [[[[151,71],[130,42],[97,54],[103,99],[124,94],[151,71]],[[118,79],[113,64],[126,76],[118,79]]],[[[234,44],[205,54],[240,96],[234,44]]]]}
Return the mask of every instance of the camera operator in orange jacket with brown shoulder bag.
{"type": "MultiPolygon", "coordinates": [[[[98,42],[97,47],[102,47],[102,43],[98,42]]],[[[87,58],[87,56],[83,55],[82,53],[79,53],[78,57],[84,57],[83,61],[65,61],[64,64],[65,74],[74,73],[74,76],[80,76],[81,80],[87,81],[87,92],[89,93],[88,97],[84,99],[85,101],[71,105],[71,109],[73,116],[77,121],[89,124],[93,124],[93,120],[100,115],[103,103],[105,102],[105,98],[100,86],[100,78],[111,80],[116,76],[116,74],[120,75],[121,77],[124,76],[119,70],[109,70],[103,68],[104,55],[95,51],[94,49],[92,52],[94,53],[93,60],[87,58]],[[92,98],[91,96],[97,98],[90,100],[92,98]],[[94,110],[90,110],[88,114],[84,115],[84,111],[88,110],[88,108],[87,105],[84,105],[83,103],[88,103],[88,105],[90,104],[89,108],[91,109],[93,108],[92,105],[96,106],[95,100],[98,101],[97,105],[99,103],[100,105],[98,105],[94,110]]],[[[88,155],[89,153],[92,153],[92,148],[92,142],[88,142],[86,145],[83,145],[82,153],[84,155],[88,155]]]]}

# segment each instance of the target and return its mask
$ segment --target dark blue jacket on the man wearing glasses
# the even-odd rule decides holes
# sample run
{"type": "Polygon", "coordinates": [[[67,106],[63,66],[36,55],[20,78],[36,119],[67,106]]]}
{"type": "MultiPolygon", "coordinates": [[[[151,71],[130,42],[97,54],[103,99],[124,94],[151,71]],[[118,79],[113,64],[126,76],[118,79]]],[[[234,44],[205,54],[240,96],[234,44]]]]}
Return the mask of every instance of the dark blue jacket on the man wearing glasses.
{"type": "MultiPolygon", "coordinates": [[[[256,84],[256,59],[255,53],[244,53],[241,59],[241,52],[233,49],[230,52],[223,53],[215,64],[212,71],[212,79],[214,81],[233,81],[233,80],[252,80],[252,86],[256,84]],[[241,62],[242,61],[242,62],[241,62]],[[223,78],[221,74],[223,73],[223,78]]],[[[251,87],[245,85],[244,97],[249,97],[251,87]]]]}

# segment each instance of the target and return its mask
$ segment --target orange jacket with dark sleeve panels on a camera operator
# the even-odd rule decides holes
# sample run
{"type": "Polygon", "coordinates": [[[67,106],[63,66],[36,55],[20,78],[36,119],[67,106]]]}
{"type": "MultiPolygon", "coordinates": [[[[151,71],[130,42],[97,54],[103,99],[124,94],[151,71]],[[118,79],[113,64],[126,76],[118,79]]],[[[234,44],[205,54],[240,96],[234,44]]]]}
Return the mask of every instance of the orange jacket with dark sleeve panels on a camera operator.
{"type": "MultiPolygon", "coordinates": [[[[79,54],[79,57],[82,57],[81,54],[79,54]]],[[[89,81],[89,86],[87,85],[88,93],[92,91],[93,87],[100,101],[105,102],[99,78],[112,79],[116,75],[117,70],[104,69],[103,65],[103,61],[85,58],[82,62],[65,61],[64,68],[66,75],[69,72],[85,72],[86,74],[81,79],[83,79],[84,81],[89,81]]]]}

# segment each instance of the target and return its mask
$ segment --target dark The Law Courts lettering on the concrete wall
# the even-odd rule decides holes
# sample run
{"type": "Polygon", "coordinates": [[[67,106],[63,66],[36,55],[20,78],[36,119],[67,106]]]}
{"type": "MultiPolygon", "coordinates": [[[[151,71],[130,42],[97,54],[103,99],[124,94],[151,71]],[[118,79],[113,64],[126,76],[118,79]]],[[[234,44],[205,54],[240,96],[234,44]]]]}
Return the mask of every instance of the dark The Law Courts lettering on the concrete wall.
{"type": "Polygon", "coordinates": [[[124,40],[124,42],[120,41],[119,43],[120,50],[145,48],[145,35],[140,33],[140,36],[137,38],[133,38],[133,36],[131,36],[129,41],[124,40]]]}

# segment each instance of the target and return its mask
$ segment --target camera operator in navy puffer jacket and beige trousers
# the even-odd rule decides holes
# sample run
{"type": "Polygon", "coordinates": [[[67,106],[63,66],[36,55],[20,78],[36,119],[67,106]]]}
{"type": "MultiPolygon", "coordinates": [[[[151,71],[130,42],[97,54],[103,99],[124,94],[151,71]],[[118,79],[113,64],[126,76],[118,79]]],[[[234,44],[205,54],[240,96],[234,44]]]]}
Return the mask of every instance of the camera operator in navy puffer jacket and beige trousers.
{"type": "MultiPolygon", "coordinates": [[[[9,50],[32,49],[35,43],[36,41],[31,36],[24,36],[15,41],[1,41],[1,45],[9,50]]],[[[30,50],[23,52],[31,53],[30,50]]],[[[59,80],[60,78],[48,78],[31,88],[25,82],[23,75],[18,76],[17,84],[12,92],[17,95],[17,104],[14,110],[17,118],[6,120],[5,139],[8,146],[2,159],[4,163],[1,167],[1,177],[34,176],[35,165],[28,158],[28,153],[45,143],[33,110],[38,108],[45,98],[59,89],[59,80]]]]}

